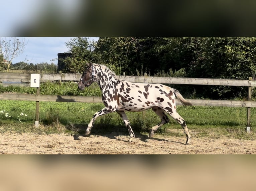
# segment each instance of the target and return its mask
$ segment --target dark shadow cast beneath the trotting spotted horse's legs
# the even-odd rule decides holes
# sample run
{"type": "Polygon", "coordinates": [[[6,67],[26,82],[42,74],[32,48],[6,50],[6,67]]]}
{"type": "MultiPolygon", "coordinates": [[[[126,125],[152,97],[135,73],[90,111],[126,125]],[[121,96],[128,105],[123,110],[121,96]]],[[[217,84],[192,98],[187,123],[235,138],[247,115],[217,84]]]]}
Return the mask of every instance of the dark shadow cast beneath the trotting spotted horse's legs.
{"type": "MultiPolygon", "coordinates": [[[[97,128],[98,125],[95,124],[89,135],[85,135],[87,125],[75,124],[74,126],[77,128],[76,132],[78,133],[78,134],[73,135],[74,140],[79,140],[80,139],[79,137],[90,137],[91,135],[94,135],[94,136],[105,136],[110,139],[115,139],[115,140],[119,140],[119,141],[123,141],[123,142],[129,142],[128,141],[128,139],[129,139],[128,130],[126,127],[123,127],[123,126],[113,126],[113,127],[111,127],[112,130],[109,130],[109,129],[102,130],[102,129],[97,128]],[[127,139],[124,140],[124,138],[120,138],[121,136],[127,136],[127,139]]],[[[148,142],[148,140],[156,140],[159,142],[160,141],[168,141],[168,142],[184,144],[182,142],[171,141],[171,140],[161,139],[161,138],[153,137],[153,138],[149,139],[148,135],[145,135],[145,134],[142,134],[142,133],[136,132],[136,131],[134,131],[134,133],[135,133],[135,137],[138,138],[142,142],[148,142]]]]}

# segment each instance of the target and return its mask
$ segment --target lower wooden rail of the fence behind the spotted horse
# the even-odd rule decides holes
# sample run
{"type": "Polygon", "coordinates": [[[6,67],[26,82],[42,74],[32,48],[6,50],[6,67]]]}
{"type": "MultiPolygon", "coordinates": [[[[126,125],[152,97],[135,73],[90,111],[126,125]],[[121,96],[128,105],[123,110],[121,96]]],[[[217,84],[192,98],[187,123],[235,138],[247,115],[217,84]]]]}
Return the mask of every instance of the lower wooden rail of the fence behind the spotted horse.
{"type": "MultiPolygon", "coordinates": [[[[97,96],[68,96],[68,95],[27,95],[27,94],[0,94],[3,100],[24,101],[60,101],[60,102],[88,102],[101,103],[101,97],[97,96]]],[[[211,100],[211,99],[187,99],[196,106],[224,106],[224,107],[256,107],[256,101],[238,100],[211,100]]],[[[179,101],[177,105],[181,105],[179,101]]]]}

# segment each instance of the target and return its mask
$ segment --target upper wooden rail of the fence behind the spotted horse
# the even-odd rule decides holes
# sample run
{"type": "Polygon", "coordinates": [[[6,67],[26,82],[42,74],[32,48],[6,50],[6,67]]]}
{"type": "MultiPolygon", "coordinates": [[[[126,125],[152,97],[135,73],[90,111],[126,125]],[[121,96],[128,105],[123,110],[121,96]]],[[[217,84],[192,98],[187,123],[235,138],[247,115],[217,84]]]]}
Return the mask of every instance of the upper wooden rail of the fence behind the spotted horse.
{"type": "MultiPolygon", "coordinates": [[[[82,74],[40,74],[40,82],[47,81],[74,81],[78,82],[82,74]]],[[[256,87],[254,80],[235,79],[211,79],[211,78],[172,78],[154,76],[118,76],[121,80],[138,83],[160,83],[160,84],[190,84],[190,85],[217,85],[217,86],[246,86],[256,87]]],[[[0,73],[0,83],[30,83],[30,74],[0,73]]],[[[16,84],[15,84],[16,85],[16,84]]]]}

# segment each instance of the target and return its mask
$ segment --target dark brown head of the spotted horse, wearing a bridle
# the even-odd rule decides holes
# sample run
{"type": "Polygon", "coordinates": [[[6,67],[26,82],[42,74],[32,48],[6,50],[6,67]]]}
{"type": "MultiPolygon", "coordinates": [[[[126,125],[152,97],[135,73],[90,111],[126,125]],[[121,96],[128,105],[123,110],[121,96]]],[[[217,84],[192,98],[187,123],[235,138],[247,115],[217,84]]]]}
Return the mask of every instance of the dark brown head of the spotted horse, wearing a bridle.
{"type": "Polygon", "coordinates": [[[87,69],[82,74],[79,82],[78,88],[79,90],[84,90],[85,87],[89,87],[94,82],[94,70],[92,63],[86,63],[87,69]]]}

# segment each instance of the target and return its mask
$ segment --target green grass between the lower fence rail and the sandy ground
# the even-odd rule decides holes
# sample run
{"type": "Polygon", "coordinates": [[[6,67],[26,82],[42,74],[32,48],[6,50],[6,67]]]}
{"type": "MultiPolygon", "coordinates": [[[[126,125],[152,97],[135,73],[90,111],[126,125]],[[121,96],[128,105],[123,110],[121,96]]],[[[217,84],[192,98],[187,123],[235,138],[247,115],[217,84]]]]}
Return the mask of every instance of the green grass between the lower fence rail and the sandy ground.
{"type": "MultiPolygon", "coordinates": [[[[35,102],[0,100],[0,132],[36,132],[36,133],[84,133],[93,114],[103,108],[102,103],[76,102],[40,102],[39,127],[35,127],[35,102]],[[24,115],[20,115],[21,112],[24,115]],[[8,117],[5,116],[8,113],[8,117]],[[27,116],[25,116],[25,114],[27,116]],[[11,116],[11,117],[9,117],[11,116]]],[[[178,113],[186,120],[193,137],[223,136],[255,139],[256,119],[251,118],[251,133],[246,133],[247,109],[242,107],[210,107],[210,106],[177,106],[178,113]]],[[[251,116],[256,113],[251,108],[251,116]]],[[[159,123],[160,119],[150,109],[142,118],[142,112],[127,112],[132,128],[137,133],[148,133],[150,128],[159,123]]],[[[113,131],[128,131],[120,116],[114,112],[96,119],[92,133],[110,133],[113,131]]],[[[184,136],[182,128],[174,121],[163,125],[157,131],[159,134],[184,136]]]]}

